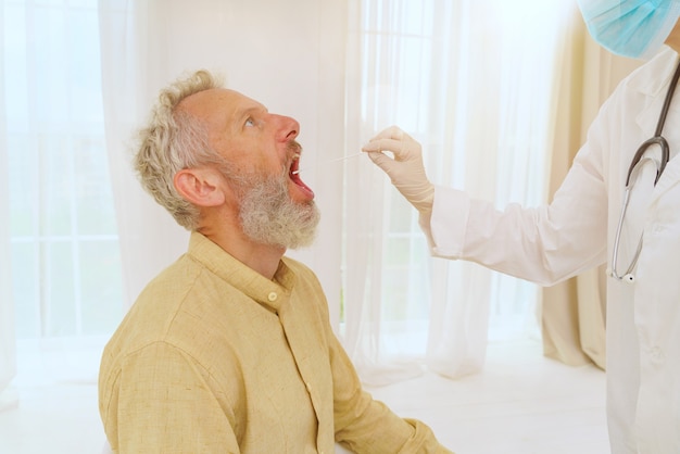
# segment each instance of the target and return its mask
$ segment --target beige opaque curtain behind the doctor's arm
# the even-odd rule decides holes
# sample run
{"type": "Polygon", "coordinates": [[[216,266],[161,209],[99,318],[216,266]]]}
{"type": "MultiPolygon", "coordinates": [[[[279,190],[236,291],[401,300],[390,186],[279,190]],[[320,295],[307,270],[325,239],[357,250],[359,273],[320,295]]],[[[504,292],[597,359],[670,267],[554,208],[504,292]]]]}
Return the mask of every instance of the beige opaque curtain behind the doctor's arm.
{"type": "MultiPolygon", "coordinates": [[[[588,127],[618,83],[640,62],[616,56],[592,40],[576,7],[557,65],[553,155],[549,194],[552,198],[585,140],[588,127]]],[[[605,265],[542,290],[543,353],[565,364],[593,363],[605,368],[605,265]]]]}

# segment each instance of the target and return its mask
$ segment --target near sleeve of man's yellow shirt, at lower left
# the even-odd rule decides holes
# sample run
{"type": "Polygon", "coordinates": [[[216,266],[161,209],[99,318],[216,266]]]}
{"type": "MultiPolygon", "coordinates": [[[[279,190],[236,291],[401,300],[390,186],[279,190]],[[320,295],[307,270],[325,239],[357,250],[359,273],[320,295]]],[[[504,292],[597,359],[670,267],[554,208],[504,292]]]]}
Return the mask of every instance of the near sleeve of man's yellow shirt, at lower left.
{"type": "Polygon", "coordinates": [[[181,350],[150,344],[130,354],[114,379],[102,413],[114,452],[239,453],[225,411],[181,350]]]}

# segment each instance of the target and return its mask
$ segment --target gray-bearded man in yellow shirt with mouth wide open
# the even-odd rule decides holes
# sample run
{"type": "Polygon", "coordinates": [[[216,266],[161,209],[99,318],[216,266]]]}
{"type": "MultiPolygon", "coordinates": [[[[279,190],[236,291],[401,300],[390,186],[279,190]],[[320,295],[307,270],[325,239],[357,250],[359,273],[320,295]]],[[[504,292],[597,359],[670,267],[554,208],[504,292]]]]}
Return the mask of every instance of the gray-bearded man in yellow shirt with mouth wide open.
{"type": "Polygon", "coordinates": [[[449,452],[362,390],[317,278],[284,256],[319,218],[299,129],[207,72],[161,92],[136,167],[191,239],[104,350],[114,452],[449,452]]]}

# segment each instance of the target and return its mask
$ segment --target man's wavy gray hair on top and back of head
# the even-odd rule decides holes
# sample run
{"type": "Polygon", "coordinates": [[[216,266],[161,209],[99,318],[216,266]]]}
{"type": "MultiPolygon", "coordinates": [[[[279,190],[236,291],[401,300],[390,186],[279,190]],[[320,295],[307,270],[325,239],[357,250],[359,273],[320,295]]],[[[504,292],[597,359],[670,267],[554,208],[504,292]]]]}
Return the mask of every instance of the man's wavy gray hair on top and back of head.
{"type": "Polygon", "coordinates": [[[209,143],[202,122],[177,105],[187,97],[213,88],[222,80],[205,70],[178,79],[161,90],[148,125],[139,131],[134,165],[142,187],[187,230],[198,227],[199,210],[182,199],[173,184],[177,172],[206,164],[224,164],[209,143]]]}

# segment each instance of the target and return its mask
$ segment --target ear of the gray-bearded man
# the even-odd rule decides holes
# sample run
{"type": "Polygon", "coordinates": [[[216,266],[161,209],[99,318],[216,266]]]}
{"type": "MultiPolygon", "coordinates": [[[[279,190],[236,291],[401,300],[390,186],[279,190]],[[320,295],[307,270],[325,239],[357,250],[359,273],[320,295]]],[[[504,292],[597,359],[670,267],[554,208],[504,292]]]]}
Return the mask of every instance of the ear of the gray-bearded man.
{"type": "Polygon", "coordinates": [[[225,202],[222,181],[212,168],[182,168],[173,179],[175,189],[198,206],[217,206],[225,202]]]}

